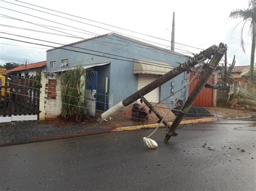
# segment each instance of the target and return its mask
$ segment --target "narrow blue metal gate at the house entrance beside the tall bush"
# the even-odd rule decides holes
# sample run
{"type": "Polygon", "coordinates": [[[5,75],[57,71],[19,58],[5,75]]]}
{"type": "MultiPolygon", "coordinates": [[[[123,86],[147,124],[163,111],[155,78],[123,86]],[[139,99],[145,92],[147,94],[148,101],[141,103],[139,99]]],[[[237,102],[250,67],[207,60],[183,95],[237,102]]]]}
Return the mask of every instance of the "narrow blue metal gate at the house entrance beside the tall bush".
{"type": "Polygon", "coordinates": [[[87,114],[91,116],[96,115],[97,79],[97,71],[86,72],[85,103],[87,114]]]}

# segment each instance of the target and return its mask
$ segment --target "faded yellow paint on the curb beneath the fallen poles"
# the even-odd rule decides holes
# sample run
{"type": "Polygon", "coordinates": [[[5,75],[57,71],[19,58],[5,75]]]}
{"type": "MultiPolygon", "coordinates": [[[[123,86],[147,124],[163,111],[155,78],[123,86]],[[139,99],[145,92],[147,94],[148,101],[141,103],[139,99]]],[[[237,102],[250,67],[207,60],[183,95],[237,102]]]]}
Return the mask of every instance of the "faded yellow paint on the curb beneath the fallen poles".
{"type": "MultiPolygon", "coordinates": [[[[215,120],[214,118],[191,119],[191,120],[181,121],[180,125],[211,122],[214,120],[215,120]]],[[[172,125],[172,122],[169,122],[169,125],[172,125]]],[[[156,128],[157,126],[158,126],[158,123],[149,124],[149,125],[124,126],[122,128],[117,128],[116,131],[131,131],[131,130],[142,129],[142,128],[156,128]]],[[[164,124],[161,124],[160,126],[164,126],[164,124]]]]}

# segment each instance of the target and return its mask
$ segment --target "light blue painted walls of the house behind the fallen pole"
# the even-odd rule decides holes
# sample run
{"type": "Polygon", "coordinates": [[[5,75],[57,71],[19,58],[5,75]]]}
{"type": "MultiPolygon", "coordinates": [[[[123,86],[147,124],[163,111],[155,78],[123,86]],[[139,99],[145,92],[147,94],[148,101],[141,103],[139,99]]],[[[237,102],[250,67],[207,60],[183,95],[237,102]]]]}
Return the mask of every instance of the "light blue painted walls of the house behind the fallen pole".
{"type": "MultiPolygon", "coordinates": [[[[84,41],[83,43],[75,44],[73,46],[92,49],[104,53],[92,52],[69,46],[64,48],[97,54],[104,57],[72,52],[64,49],[54,49],[47,52],[47,72],[55,72],[63,69],[60,67],[60,63],[64,59],[69,59],[69,67],[111,62],[109,65],[95,67],[95,69],[98,71],[98,93],[104,93],[105,77],[109,77],[109,107],[112,107],[112,105],[117,104],[125,97],[134,93],[134,91],[137,91],[138,74],[133,74],[134,59],[160,61],[169,63],[171,66],[178,66],[179,63],[177,62],[184,62],[187,60],[187,57],[184,55],[173,53],[171,51],[164,51],[163,49],[149,46],[144,43],[139,43],[138,41],[121,37],[116,34],[84,41]],[[123,58],[108,55],[106,53],[123,56],[123,58]],[[111,58],[107,58],[107,56],[111,58]],[[114,58],[122,60],[117,60],[114,58]],[[50,68],[51,61],[56,61],[56,68],[50,68]]],[[[176,92],[180,88],[184,87],[184,74],[180,74],[171,81],[174,82],[174,92],[176,92]]],[[[163,100],[165,97],[171,95],[171,81],[166,82],[160,87],[160,100],[163,100]]],[[[180,92],[165,100],[164,103],[170,107],[171,103],[173,103],[176,98],[179,97],[180,92]]],[[[184,95],[184,97],[186,97],[186,95],[187,93],[184,95]]],[[[102,101],[102,96],[99,97],[100,98],[97,98],[97,101],[102,101]]],[[[102,105],[98,105],[102,109],[102,105]]]]}

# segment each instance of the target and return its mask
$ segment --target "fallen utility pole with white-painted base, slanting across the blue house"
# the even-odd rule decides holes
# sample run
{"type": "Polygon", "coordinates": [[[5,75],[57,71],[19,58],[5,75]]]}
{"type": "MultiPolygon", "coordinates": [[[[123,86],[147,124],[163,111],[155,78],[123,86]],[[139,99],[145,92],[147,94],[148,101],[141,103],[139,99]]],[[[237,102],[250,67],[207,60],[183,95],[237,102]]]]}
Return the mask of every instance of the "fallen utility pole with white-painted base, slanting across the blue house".
{"type": "Polygon", "coordinates": [[[193,58],[188,59],[186,62],[181,63],[180,66],[178,66],[176,69],[172,69],[166,74],[160,76],[157,80],[154,80],[150,84],[147,84],[147,86],[143,87],[142,89],[136,91],[136,93],[133,93],[129,97],[126,97],[122,102],[119,102],[118,104],[114,105],[112,108],[109,110],[105,111],[101,115],[101,119],[106,119],[110,117],[110,115],[115,114],[116,112],[124,109],[134,101],[138,100],[141,96],[144,96],[150,91],[156,89],[157,87],[161,86],[161,84],[164,84],[165,82],[173,79],[177,75],[189,70],[190,68],[194,67],[197,65],[197,63],[202,62],[206,59],[211,59],[212,55],[215,53],[217,50],[218,46],[213,45],[204,51],[200,52],[199,54],[194,55],[193,58]]]}

